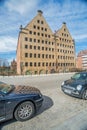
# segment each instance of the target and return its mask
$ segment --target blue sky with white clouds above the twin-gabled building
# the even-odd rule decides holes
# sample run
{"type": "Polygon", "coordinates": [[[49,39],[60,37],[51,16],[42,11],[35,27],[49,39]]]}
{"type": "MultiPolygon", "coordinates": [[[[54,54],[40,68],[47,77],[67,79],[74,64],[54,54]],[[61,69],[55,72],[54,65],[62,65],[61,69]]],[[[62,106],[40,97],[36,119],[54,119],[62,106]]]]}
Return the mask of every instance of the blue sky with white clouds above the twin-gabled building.
{"type": "Polygon", "coordinates": [[[25,27],[42,10],[54,32],[66,22],[76,54],[87,49],[87,0],[0,0],[0,58],[16,58],[20,25],[25,27]]]}

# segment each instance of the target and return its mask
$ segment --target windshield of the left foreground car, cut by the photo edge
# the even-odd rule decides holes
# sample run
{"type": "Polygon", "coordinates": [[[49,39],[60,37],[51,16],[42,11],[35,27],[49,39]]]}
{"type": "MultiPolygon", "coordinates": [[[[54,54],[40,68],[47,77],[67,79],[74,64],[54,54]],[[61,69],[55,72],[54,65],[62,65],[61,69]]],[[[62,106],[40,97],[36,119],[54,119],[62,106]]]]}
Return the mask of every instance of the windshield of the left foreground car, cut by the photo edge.
{"type": "Polygon", "coordinates": [[[3,82],[0,82],[0,92],[7,94],[9,93],[13,87],[11,85],[5,84],[3,82]]]}

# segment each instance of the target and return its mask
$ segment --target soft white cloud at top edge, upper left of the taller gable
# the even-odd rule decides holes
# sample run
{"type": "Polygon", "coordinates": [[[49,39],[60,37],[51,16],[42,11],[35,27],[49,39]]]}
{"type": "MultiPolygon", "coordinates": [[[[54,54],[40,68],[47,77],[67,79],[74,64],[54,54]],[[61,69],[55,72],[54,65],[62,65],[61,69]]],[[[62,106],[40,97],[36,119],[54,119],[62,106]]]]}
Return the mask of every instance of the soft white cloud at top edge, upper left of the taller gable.
{"type": "Polygon", "coordinates": [[[32,12],[40,0],[9,0],[5,6],[9,11],[15,11],[21,15],[32,12]]]}

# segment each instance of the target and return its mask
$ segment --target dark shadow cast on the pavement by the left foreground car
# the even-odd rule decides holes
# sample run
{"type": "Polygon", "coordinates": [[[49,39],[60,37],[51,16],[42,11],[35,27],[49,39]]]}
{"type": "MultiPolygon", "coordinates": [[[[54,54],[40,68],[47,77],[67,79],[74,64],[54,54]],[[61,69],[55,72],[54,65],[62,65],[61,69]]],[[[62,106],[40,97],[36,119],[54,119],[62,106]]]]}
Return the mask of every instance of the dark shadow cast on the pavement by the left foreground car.
{"type": "MultiPolygon", "coordinates": [[[[44,111],[46,111],[47,109],[49,109],[53,106],[53,100],[50,97],[44,95],[43,99],[44,99],[43,104],[34,117],[43,113],[44,111]]],[[[6,125],[9,125],[9,124],[13,125],[15,122],[17,122],[17,121],[15,119],[12,119],[12,120],[0,123],[0,130],[3,130],[3,127],[6,125]]],[[[24,122],[22,122],[22,123],[24,123],[24,122]]],[[[8,130],[9,130],[9,128],[8,128],[8,130]]],[[[15,128],[13,130],[15,130],[15,128]]]]}

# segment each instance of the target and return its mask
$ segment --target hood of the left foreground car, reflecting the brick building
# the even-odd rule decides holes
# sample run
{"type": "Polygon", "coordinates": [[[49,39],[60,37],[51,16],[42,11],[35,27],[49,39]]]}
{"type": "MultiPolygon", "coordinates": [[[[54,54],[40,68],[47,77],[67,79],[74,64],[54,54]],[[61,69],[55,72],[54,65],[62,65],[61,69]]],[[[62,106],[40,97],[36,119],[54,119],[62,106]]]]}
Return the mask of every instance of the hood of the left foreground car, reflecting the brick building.
{"type": "Polygon", "coordinates": [[[14,94],[40,94],[40,90],[30,86],[15,86],[14,94]]]}

